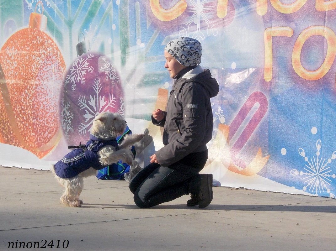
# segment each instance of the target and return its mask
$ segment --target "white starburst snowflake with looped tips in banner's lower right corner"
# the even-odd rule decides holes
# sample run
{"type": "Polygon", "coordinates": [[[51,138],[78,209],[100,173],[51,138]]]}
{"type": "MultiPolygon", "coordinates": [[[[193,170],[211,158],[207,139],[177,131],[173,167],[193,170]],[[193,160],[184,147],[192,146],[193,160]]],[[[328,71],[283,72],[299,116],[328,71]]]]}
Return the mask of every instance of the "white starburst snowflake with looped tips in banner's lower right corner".
{"type": "Polygon", "coordinates": [[[303,168],[305,171],[298,171],[297,169],[292,169],[290,173],[293,176],[300,174],[300,176],[305,176],[303,178],[306,186],[303,187],[304,191],[309,191],[311,193],[315,193],[316,196],[323,192],[327,192],[330,194],[330,197],[335,198],[335,195],[330,193],[329,186],[331,185],[332,179],[336,178],[336,174],[332,173],[330,163],[332,160],[336,158],[336,151],[333,152],[330,158],[326,160],[321,156],[320,159],[320,150],[322,147],[321,140],[317,140],[316,142],[316,159],[315,156],[313,158],[309,158],[306,156],[304,150],[300,147],[299,154],[306,161],[305,167],[303,168]]]}

